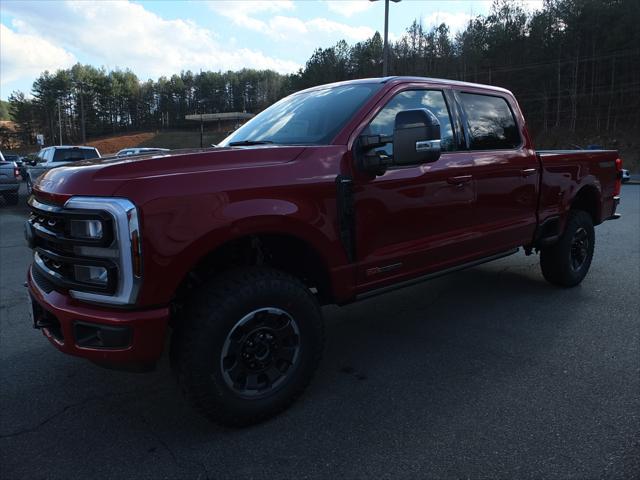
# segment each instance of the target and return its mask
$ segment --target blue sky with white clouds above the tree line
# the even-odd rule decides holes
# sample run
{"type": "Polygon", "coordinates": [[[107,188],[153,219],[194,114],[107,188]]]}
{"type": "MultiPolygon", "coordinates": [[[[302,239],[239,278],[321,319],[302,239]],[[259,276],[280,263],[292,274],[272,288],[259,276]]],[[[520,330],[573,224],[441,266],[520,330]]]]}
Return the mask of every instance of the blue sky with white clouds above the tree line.
{"type": "MultiPolygon", "coordinates": [[[[523,0],[526,9],[542,0],[523,0]]],[[[452,34],[486,15],[492,0],[391,3],[389,37],[414,19],[452,34]]],[[[384,1],[65,0],[0,2],[0,98],[28,93],[35,78],[80,62],[157,79],[182,70],[304,67],[318,47],[350,44],[384,30],[384,1]]]]}

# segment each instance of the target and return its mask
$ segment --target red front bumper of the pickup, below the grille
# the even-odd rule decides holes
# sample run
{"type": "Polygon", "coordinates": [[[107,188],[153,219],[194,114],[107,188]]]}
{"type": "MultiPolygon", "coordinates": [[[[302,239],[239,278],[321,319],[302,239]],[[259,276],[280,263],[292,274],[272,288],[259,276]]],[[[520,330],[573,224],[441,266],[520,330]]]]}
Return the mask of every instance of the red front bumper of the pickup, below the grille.
{"type": "Polygon", "coordinates": [[[31,268],[27,287],[35,302],[29,306],[34,311],[34,327],[41,328],[64,353],[124,368],[154,363],[162,354],[169,323],[167,307],[132,311],[81,304],[55,290],[41,289],[31,268]]]}

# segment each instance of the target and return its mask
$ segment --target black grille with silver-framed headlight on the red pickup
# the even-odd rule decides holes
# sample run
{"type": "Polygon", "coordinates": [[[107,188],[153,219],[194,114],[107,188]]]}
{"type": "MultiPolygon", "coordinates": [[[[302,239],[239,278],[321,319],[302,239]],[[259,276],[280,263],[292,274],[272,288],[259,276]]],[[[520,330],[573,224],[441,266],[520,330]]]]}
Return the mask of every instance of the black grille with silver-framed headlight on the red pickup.
{"type": "Polygon", "coordinates": [[[35,282],[94,303],[135,303],[142,272],[135,206],[126,199],[73,197],[64,207],[29,199],[25,226],[35,282]]]}

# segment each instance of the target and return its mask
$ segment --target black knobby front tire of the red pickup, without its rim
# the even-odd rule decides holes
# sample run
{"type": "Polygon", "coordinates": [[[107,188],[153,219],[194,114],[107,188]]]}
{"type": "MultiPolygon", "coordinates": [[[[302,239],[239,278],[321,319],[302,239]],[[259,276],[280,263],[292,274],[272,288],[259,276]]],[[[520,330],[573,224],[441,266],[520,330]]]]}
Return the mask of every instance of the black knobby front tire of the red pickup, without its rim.
{"type": "Polygon", "coordinates": [[[258,423],[286,409],[309,384],[322,356],[324,327],[313,294],[298,279],[262,267],[233,270],[206,282],[185,306],[172,336],[178,383],[193,406],[226,426],[258,423]],[[237,322],[263,308],[286,311],[299,329],[291,371],[264,398],[246,398],[226,382],[221,354],[237,322]]]}

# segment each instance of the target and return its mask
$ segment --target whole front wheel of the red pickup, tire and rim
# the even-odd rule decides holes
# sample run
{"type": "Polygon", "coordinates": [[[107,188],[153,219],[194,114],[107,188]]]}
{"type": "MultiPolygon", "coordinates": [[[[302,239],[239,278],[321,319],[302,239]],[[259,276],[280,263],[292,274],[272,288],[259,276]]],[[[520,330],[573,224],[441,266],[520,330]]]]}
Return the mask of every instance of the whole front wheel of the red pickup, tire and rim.
{"type": "Polygon", "coordinates": [[[276,415],[309,383],[320,361],[316,299],[296,278],[252,268],[197,291],[172,339],[178,380],[207,418],[243,426],[276,415]]]}

